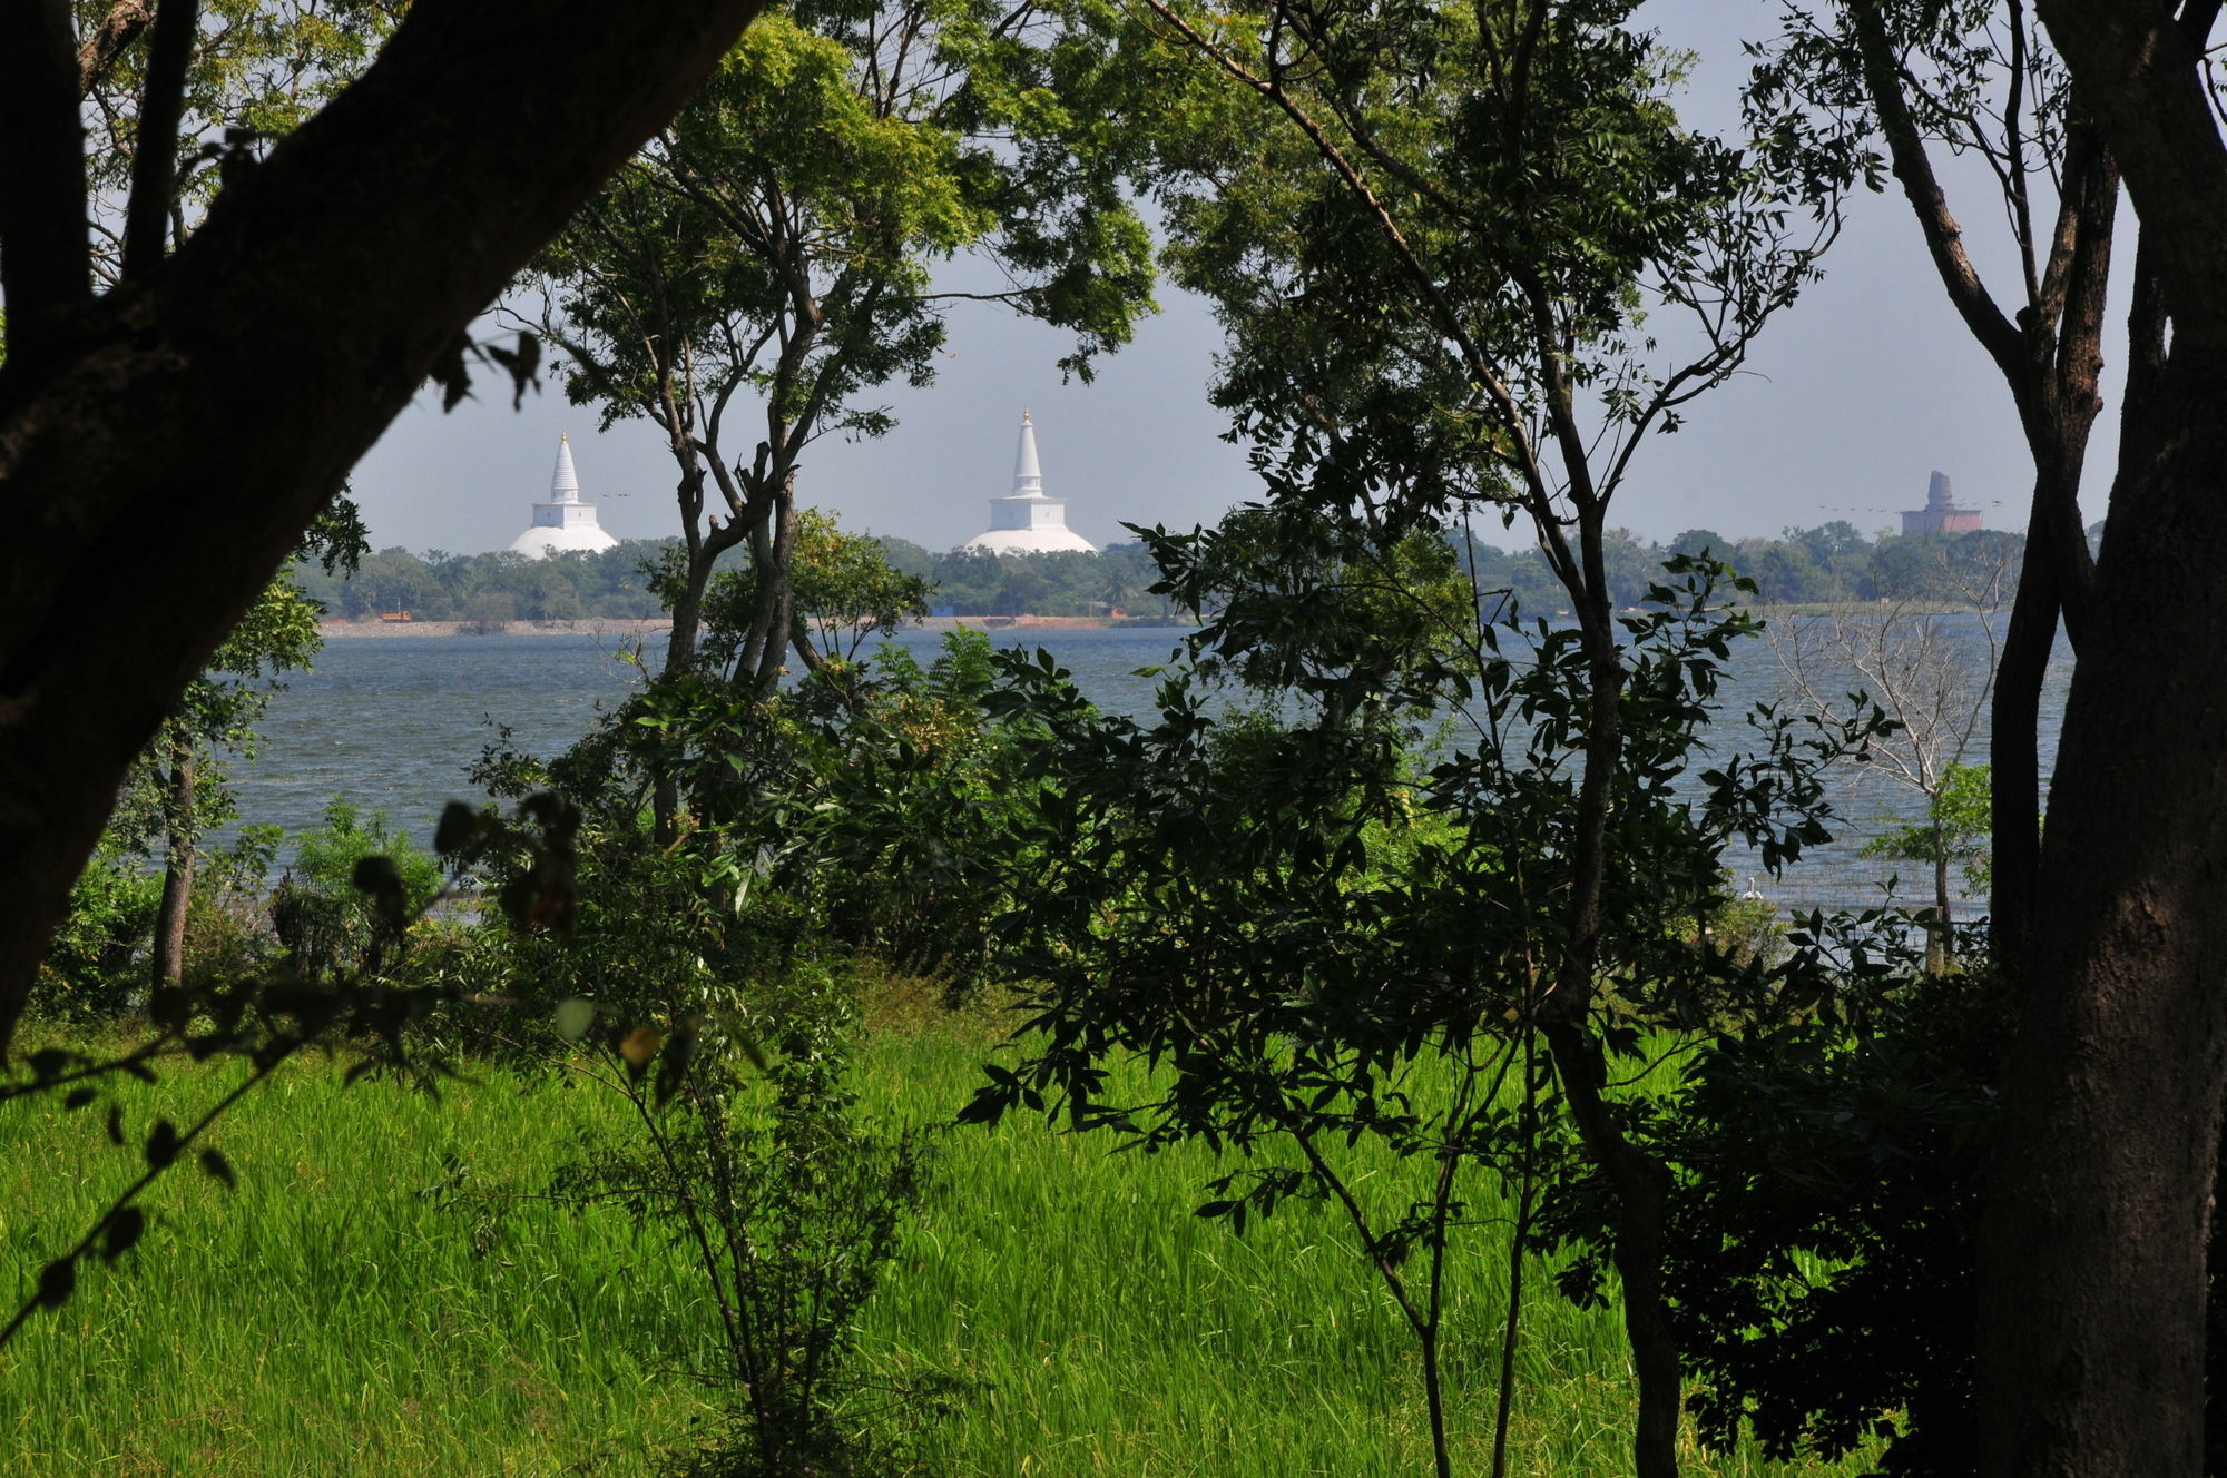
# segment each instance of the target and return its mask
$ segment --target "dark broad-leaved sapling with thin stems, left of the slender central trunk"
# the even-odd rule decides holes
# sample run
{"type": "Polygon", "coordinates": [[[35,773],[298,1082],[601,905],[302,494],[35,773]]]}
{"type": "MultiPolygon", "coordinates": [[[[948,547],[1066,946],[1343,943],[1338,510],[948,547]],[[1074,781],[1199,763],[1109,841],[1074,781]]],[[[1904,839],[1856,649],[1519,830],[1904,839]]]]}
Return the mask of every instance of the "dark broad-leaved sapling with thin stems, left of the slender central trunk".
{"type": "MultiPolygon", "coordinates": [[[[1225,603],[1145,721],[1098,715],[1049,657],[1002,659],[1018,688],[1004,701],[1049,730],[1027,752],[1024,861],[998,922],[1027,1022],[1018,1066],[984,1068],[962,1117],[1027,1106],[1131,1146],[1196,1137],[1236,1151],[1243,1162],[1198,1213],[1238,1231],[1294,1195],[1336,1204],[1416,1340],[1441,1478],[1441,1273],[1477,1224],[1477,1180],[1499,1178],[1517,1202],[1499,1474],[1523,1260],[1548,1247],[1534,1218],[1550,1198],[1581,1204],[1561,1226],[1583,1224],[1619,1267],[1635,1251],[1537,1013],[1554,988],[1541,919],[1572,886],[1583,828],[1572,770],[1592,668],[1577,630],[1512,612],[1479,630],[1468,601],[1448,612],[1439,581],[1405,583],[1452,563],[1443,543],[1434,556],[1407,541],[1387,550],[1316,519],[1298,559],[1298,519],[1283,510],[1274,548],[1267,523],[1252,512],[1220,536],[1154,539],[1178,599],[1220,588],[1225,603]],[[1229,579],[1234,561],[1247,579],[1229,579]],[[1272,572],[1292,583],[1260,579],[1272,572]],[[1209,710],[1203,670],[1243,677],[1269,710],[1209,710]],[[1452,708],[1463,741],[1416,777],[1403,748],[1434,703],[1452,708]],[[1134,1097],[1111,1086],[1118,1060],[1154,1068],[1134,1097]],[[1414,1164],[1414,1180],[1363,1186],[1343,1162],[1363,1137],[1414,1164]]],[[[1791,973],[1717,950],[1690,924],[1719,901],[1735,835],[1762,841],[1773,866],[1822,837],[1817,766],[1871,723],[1815,741],[1795,739],[1793,721],[1770,726],[1768,759],[1728,761],[1704,806],[1684,799],[1719,668],[1753,632],[1715,608],[1717,574],[1684,570],[1621,623],[1628,763],[1595,957],[1617,999],[1601,1024],[1617,1051],[1637,1051],[1650,1026],[1764,1019],[1799,999],[1791,973]]],[[[1628,1104],[1615,1113],[1641,1120],[1628,1104]]],[[[1574,1287],[1599,1298],[1597,1278],[1574,1287]]]]}

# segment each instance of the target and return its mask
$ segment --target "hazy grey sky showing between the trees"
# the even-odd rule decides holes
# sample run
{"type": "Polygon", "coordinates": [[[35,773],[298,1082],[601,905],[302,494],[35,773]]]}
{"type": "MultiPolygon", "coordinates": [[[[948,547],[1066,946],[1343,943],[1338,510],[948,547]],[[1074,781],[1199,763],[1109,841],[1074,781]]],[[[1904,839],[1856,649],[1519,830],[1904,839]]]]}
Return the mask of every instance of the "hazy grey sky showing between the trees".
{"type": "MultiPolygon", "coordinates": [[[[1739,40],[1766,33],[1773,7],[1659,0],[1646,18],[1701,56],[1686,114],[1721,127],[1742,76],[1739,40]]],[[[1966,200],[1964,225],[1984,249],[2000,236],[2000,209],[1991,196],[1966,200]]],[[[1989,528],[2024,525],[2031,472],[2009,396],[1949,309],[1900,191],[1853,200],[1824,267],[1824,280],[1766,332],[1748,374],[1695,403],[1686,430],[1641,447],[1617,523],[1652,539],[1697,525],[1735,539],[1777,534],[1831,519],[1877,532],[1924,503],[1926,474],[1940,467],[1989,528]]],[[[1205,303],[1165,283],[1160,305],[1093,385],[1060,383],[1053,361],[1065,336],[962,305],[935,385],[882,396],[900,421],[886,439],[831,439],[806,454],[799,501],[853,530],[931,550],[962,543],[987,528],[984,499],[1009,485],[1027,407],[1044,490],[1069,499],[1069,525],[1087,539],[1127,539],[1125,521],[1211,523],[1254,496],[1245,456],[1220,441],[1225,418],[1205,398],[1220,334],[1205,303]]],[[[2113,412],[2116,403],[2089,452],[2091,521],[2102,516],[2113,412]]],[[[639,539],[677,532],[673,463],[655,427],[597,434],[595,421],[557,385],[528,394],[521,412],[492,378],[448,416],[421,394],[352,479],[374,545],[508,545],[528,503],[546,496],[559,432],[572,436],[581,492],[601,508],[604,528],[639,539]]],[[[1521,525],[1501,541],[1523,543],[1521,525]]]]}

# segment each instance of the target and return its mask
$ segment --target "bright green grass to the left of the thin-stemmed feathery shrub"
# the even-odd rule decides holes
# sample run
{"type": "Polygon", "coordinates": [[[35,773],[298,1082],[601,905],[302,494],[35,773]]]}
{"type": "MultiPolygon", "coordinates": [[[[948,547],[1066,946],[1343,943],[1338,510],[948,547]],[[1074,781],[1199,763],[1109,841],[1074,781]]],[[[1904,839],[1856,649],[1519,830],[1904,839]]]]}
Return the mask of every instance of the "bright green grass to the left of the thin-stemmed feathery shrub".
{"type": "MultiPolygon", "coordinates": [[[[127,1113],[183,1117],[238,1071],[131,1086],[127,1113]]],[[[441,1100],[339,1080],[303,1064],[247,1095],[216,1131],[238,1191],[174,1169],[140,1249],[0,1353],[0,1474],[632,1474],[702,1413],[641,1353],[702,1318],[664,1244],[436,1195],[459,1166],[541,1189],[615,1106],[501,1071],[441,1100]]],[[[136,1169],[98,1111],[0,1108],[0,1287],[136,1169]]]]}

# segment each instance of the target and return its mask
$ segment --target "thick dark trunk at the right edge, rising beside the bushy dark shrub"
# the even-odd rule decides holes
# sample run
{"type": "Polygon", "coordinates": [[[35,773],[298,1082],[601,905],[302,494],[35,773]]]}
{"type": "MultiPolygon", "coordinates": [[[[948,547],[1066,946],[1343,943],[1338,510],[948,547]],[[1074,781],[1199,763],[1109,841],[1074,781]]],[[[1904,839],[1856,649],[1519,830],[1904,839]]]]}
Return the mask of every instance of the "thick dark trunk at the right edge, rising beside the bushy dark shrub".
{"type": "Polygon", "coordinates": [[[2111,503],[1980,1244],[1984,1474],[2200,1471],[2227,1093],[2227,349],[2111,503]]]}

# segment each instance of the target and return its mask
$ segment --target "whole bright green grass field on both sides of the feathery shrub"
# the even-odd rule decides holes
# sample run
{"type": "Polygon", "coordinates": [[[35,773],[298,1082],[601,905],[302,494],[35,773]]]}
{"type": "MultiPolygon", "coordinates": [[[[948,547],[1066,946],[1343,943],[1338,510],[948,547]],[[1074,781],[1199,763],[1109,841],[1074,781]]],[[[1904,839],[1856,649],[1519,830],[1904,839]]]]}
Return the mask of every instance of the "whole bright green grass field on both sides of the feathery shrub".
{"type": "MultiPolygon", "coordinates": [[[[964,1026],[884,1031],[864,1108],[946,1122],[982,1051],[964,1026]]],[[[183,1117],[238,1071],[127,1102],[138,1122],[183,1117]]],[[[249,1095],[216,1131],[241,1189],[174,1171],[143,1247],[0,1356],[0,1476],[641,1474],[713,1413],[673,1367],[710,1320],[686,1262],[617,1213],[530,1200],[583,1133],[621,1122],[612,1095],[494,1068],[439,1100],[339,1080],[310,1062],[249,1095]]],[[[980,1382],[926,1433],[922,1471],[1430,1471],[1405,1329],[1327,1209],[1236,1238],[1191,1215],[1216,1173],[1203,1151],[1107,1155],[1033,1120],[940,1144],[942,1184],[860,1331],[877,1376],[980,1382]]],[[[98,1111],[0,1106],[0,1287],[27,1291],[134,1169],[98,1111]]],[[[1365,1180],[1394,1200],[1396,1178],[1365,1180]]],[[[1448,1367],[1456,1471],[1483,1474],[1503,1247],[1485,1226],[1470,1249],[1448,1367]]],[[[1512,1469],[1630,1471],[1615,1316],[1532,1289],[1512,1469]]],[[[1699,1474],[1795,1471],[1688,1456],[1699,1474]]]]}

